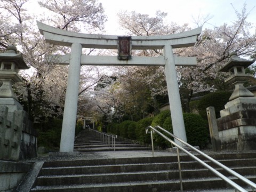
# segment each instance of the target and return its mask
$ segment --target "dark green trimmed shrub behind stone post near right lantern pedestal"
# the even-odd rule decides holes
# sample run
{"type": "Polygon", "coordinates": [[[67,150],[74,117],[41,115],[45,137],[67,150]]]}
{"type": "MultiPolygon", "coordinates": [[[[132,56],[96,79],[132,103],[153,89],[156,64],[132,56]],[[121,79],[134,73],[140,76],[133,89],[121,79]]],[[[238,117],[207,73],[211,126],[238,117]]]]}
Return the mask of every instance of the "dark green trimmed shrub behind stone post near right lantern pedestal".
{"type": "Polygon", "coordinates": [[[207,119],[206,108],[214,107],[216,118],[219,118],[220,110],[225,108],[225,105],[229,101],[230,96],[231,92],[228,91],[218,91],[204,95],[204,97],[198,103],[199,114],[204,119],[207,119]]]}

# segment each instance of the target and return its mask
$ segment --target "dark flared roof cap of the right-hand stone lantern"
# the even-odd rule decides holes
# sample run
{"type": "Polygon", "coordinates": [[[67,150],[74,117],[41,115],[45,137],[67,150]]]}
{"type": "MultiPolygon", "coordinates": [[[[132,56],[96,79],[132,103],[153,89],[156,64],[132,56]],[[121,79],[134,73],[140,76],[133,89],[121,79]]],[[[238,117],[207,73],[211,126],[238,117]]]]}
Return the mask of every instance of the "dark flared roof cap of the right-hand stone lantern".
{"type": "Polygon", "coordinates": [[[252,63],[254,63],[255,60],[247,60],[247,59],[242,59],[242,58],[239,58],[237,56],[237,53],[236,52],[231,52],[230,54],[230,58],[228,60],[228,62],[226,63],[225,66],[223,66],[221,69],[219,69],[219,71],[221,72],[228,72],[229,69],[235,67],[235,66],[241,66],[241,67],[244,67],[247,68],[249,67],[250,65],[252,65],[252,63]]]}

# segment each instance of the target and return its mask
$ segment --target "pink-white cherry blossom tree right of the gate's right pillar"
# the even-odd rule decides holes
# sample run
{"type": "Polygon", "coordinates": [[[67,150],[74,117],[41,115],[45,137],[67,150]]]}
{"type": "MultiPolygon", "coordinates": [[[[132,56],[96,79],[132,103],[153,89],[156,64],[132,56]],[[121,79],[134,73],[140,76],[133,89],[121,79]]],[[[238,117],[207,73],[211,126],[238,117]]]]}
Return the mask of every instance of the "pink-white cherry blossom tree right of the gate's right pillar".
{"type": "Polygon", "coordinates": [[[178,53],[196,56],[198,62],[196,67],[178,68],[180,85],[187,89],[184,96],[187,104],[194,93],[233,89],[224,82],[227,74],[218,70],[228,61],[230,52],[235,51],[240,57],[246,58],[255,52],[256,34],[250,33],[253,26],[246,21],[249,14],[246,5],[241,12],[235,12],[237,19],[231,25],[223,23],[222,26],[203,30],[196,46],[178,53]]]}

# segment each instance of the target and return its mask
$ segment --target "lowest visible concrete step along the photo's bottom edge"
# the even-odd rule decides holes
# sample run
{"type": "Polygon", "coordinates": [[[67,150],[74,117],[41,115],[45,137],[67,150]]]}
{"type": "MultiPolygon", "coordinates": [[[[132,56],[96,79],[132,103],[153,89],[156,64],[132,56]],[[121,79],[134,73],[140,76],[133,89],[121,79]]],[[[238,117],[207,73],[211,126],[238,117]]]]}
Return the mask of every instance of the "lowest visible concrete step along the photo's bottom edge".
{"type": "MultiPolygon", "coordinates": [[[[235,178],[230,178],[236,180],[235,178]]],[[[250,179],[250,178],[249,178],[250,179]]],[[[187,191],[206,191],[215,190],[225,191],[227,188],[230,189],[223,180],[219,178],[209,179],[183,179],[183,189],[187,191]],[[203,183],[203,185],[202,185],[203,183]],[[207,189],[205,188],[207,186],[207,189]],[[220,186],[223,186],[220,188],[220,186]],[[206,190],[205,190],[206,189],[206,190]]],[[[82,185],[53,185],[53,186],[36,186],[31,191],[87,191],[87,192],[101,192],[101,191],[117,191],[117,192],[137,192],[137,191],[179,191],[180,182],[179,180],[162,180],[162,181],[141,181],[141,182],[110,182],[110,183],[90,183],[82,185]]],[[[234,191],[234,189],[233,189],[234,191]]]]}

